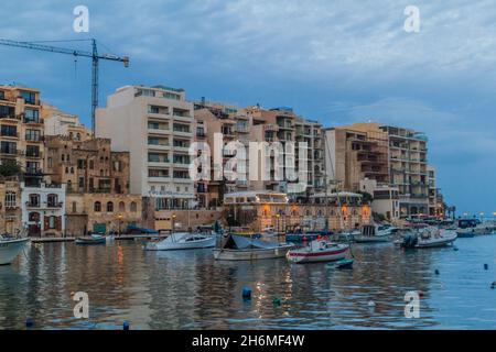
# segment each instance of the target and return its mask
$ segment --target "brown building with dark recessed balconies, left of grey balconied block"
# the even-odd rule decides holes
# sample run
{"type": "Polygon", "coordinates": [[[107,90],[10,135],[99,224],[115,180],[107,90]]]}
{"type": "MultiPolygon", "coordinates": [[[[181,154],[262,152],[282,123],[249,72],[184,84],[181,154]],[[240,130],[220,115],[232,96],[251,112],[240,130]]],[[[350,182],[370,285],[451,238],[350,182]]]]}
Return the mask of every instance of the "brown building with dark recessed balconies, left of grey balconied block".
{"type": "Polygon", "coordinates": [[[388,135],[370,124],[326,129],[326,172],[349,191],[360,190],[364,179],[387,185],[389,178],[388,135]]]}

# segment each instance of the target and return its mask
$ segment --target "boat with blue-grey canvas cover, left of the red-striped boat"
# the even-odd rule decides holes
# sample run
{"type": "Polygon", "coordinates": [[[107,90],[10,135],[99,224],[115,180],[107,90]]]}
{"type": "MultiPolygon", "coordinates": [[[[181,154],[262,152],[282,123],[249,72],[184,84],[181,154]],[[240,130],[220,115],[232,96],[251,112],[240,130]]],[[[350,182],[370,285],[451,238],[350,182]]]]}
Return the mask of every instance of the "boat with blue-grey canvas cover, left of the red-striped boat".
{"type": "Polygon", "coordinates": [[[284,257],[293,244],[266,242],[236,234],[228,234],[214,249],[217,261],[254,261],[284,257]]]}

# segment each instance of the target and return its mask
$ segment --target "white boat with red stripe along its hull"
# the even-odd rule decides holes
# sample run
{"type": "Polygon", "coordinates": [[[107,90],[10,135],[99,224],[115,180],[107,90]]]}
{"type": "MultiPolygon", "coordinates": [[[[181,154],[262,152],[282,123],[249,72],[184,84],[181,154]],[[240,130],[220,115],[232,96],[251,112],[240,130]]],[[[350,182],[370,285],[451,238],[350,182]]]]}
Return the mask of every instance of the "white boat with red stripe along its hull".
{"type": "Polygon", "coordinates": [[[348,250],[348,244],[315,240],[302,249],[289,251],[287,257],[295,264],[337,262],[346,257],[348,250]]]}

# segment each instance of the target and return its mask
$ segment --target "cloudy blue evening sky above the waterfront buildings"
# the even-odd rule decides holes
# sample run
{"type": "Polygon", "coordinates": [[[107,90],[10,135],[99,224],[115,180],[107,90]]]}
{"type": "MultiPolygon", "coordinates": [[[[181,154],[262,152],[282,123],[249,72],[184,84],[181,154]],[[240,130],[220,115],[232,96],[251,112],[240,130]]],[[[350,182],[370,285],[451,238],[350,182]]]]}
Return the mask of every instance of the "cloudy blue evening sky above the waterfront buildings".
{"type": "MultiPolygon", "coordinates": [[[[438,187],[457,213],[496,211],[494,1],[2,0],[0,38],[95,37],[100,106],[125,85],[184,88],[188,99],[292,107],[325,127],[374,121],[423,131],[438,187]],[[89,10],[89,33],[73,13],[89,10]],[[405,9],[419,9],[419,32],[405,9]]],[[[89,43],[50,43],[89,50],[89,43]]],[[[90,61],[0,45],[0,82],[89,125],[90,61]]]]}

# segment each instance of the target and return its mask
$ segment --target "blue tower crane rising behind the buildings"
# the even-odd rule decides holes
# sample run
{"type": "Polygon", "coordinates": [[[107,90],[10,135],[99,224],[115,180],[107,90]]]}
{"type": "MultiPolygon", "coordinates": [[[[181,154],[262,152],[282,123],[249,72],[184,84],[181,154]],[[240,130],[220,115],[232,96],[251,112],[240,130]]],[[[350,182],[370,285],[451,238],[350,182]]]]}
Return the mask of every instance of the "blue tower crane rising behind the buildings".
{"type": "Polygon", "coordinates": [[[0,38],[0,45],[14,46],[14,47],[23,47],[34,51],[43,51],[58,54],[73,55],[75,57],[90,57],[91,58],[91,132],[95,136],[95,116],[96,109],[98,108],[98,66],[99,61],[111,61],[111,62],[121,62],[125,67],[129,67],[129,57],[128,56],[117,56],[112,54],[98,54],[97,41],[91,38],[91,52],[72,50],[66,47],[51,46],[44,45],[33,42],[19,42],[19,41],[10,41],[0,38]]]}

